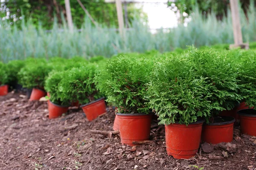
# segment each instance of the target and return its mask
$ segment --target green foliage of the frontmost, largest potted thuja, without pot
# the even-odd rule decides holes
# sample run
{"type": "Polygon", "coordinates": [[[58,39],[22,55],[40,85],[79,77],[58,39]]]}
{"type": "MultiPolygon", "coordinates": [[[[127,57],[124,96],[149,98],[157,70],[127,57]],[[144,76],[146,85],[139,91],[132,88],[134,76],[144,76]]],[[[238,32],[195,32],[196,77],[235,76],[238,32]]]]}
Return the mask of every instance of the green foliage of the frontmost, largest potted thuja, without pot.
{"type": "Polygon", "coordinates": [[[198,77],[186,57],[172,56],[156,62],[145,95],[160,124],[196,122],[210,116],[209,83],[198,77]]]}

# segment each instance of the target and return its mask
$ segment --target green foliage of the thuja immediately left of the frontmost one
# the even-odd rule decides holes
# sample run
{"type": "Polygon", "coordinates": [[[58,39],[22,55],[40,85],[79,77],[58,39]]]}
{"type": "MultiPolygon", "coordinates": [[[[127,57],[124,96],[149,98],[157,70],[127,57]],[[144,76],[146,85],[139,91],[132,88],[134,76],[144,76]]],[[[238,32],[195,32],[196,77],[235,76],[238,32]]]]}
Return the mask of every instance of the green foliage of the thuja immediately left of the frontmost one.
{"type": "Polygon", "coordinates": [[[149,113],[143,99],[153,62],[132,57],[109,60],[95,78],[96,86],[112,102],[119,113],[149,113]]]}

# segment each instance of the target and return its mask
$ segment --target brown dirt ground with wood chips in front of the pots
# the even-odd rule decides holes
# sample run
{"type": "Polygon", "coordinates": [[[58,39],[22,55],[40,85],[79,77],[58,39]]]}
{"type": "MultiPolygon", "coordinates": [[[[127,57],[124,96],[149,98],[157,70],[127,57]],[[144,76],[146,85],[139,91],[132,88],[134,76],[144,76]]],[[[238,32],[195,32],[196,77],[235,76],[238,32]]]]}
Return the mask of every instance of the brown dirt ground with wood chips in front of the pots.
{"type": "MultiPolygon", "coordinates": [[[[188,160],[168,156],[164,126],[152,122],[150,144],[123,146],[112,130],[114,113],[89,122],[73,108],[48,119],[47,102],[29,102],[23,94],[0,96],[0,170],[256,170],[256,138],[234,131],[232,143],[202,144],[188,160]]],[[[239,127],[236,127],[239,129],[239,127]]]]}

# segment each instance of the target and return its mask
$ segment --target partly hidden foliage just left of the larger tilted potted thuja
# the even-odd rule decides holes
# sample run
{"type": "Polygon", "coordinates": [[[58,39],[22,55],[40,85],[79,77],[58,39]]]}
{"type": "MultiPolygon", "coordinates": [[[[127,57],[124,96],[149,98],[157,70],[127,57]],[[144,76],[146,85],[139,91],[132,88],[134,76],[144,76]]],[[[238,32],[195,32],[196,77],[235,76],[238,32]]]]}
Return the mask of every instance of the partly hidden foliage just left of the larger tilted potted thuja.
{"type": "Polygon", "coordinates": [[[63,79],[66,71],[51,71],[45,81],[45,90],[50,93],[50,101],[56,105],[69,105],[69,99],[61,99],[61,91],[59,91],[59,83],[63,79]]]}

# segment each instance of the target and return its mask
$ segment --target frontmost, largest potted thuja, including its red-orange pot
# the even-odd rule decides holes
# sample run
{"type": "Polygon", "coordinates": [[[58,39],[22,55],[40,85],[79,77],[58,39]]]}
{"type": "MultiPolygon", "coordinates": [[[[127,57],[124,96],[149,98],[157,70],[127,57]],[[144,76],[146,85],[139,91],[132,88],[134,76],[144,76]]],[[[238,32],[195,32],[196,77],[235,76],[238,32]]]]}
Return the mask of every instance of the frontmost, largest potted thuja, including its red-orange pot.
{"type": "Polygon", "coordinates": [[[165,125],[166,150],[176,159],[198,152],[203,117],[210,115],[209,84],[196,77],[189,60],[172,56],[156,62],[145,99],[165,125]]]}

